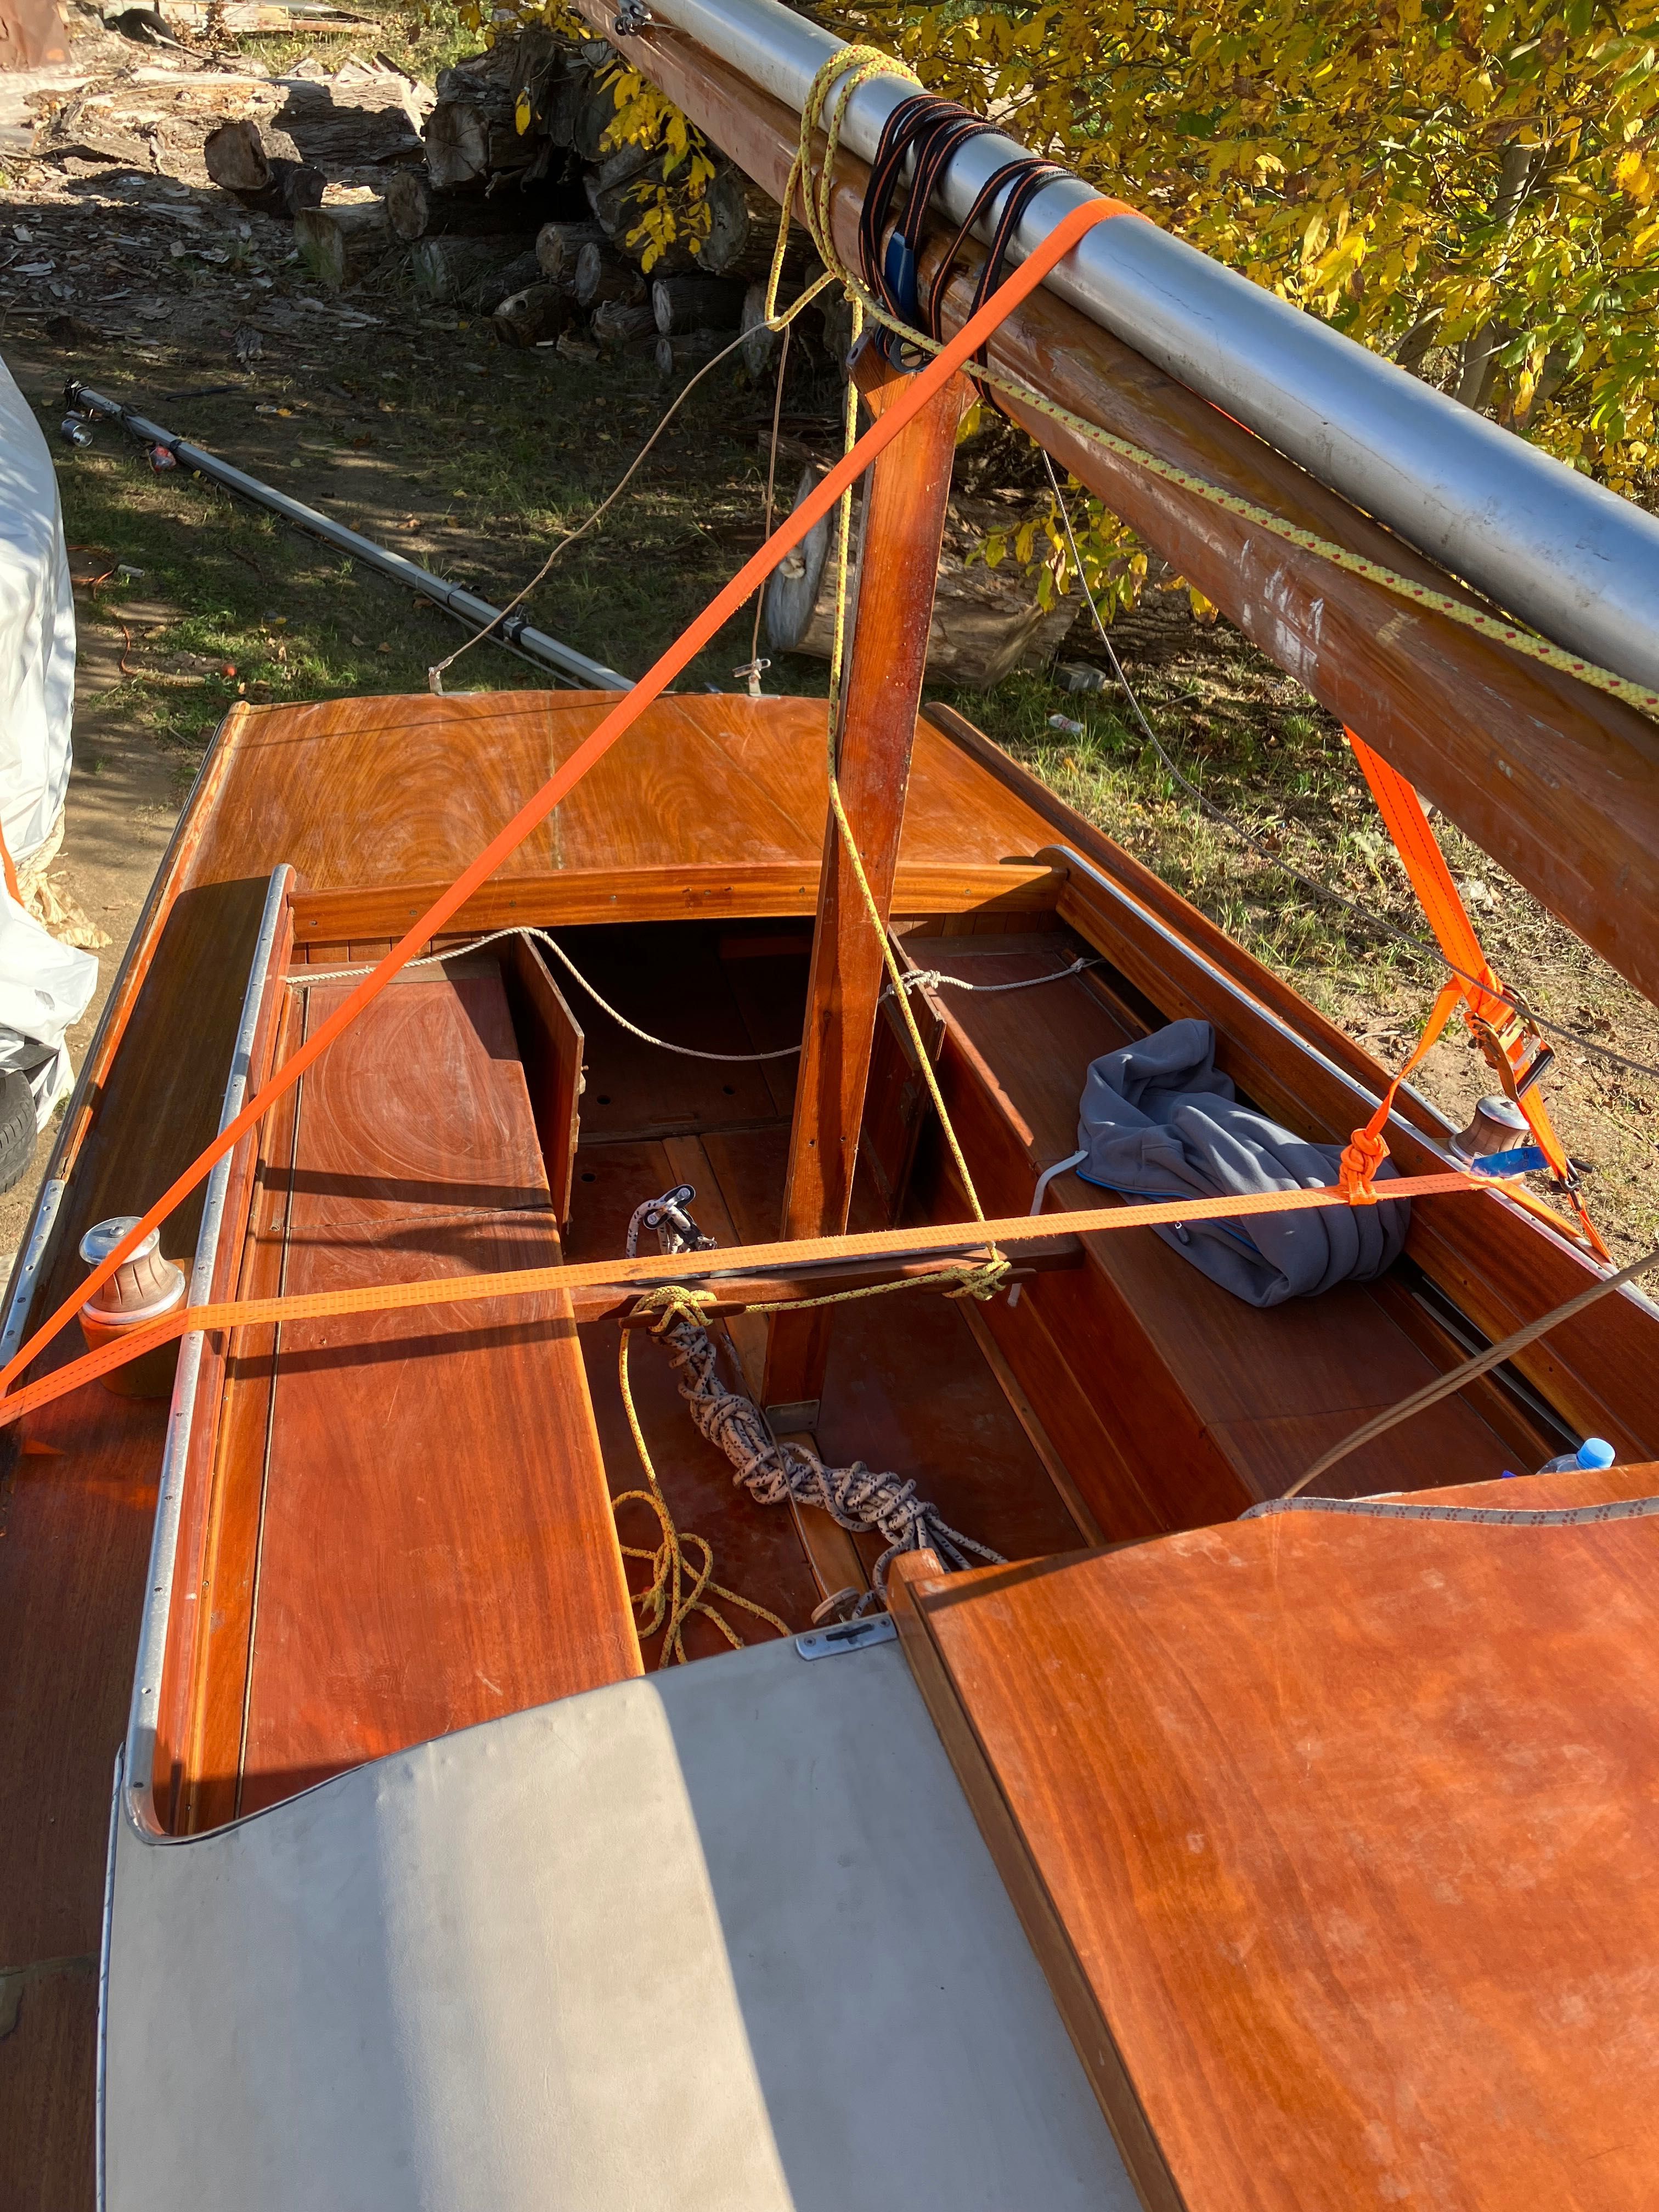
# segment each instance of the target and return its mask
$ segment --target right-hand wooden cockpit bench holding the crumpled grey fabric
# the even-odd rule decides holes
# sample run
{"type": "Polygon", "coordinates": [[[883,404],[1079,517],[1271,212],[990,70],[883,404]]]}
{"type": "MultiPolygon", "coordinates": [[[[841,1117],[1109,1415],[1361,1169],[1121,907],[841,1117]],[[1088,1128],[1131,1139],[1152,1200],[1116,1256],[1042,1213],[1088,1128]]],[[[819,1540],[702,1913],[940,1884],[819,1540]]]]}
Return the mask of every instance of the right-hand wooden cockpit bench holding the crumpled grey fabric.
{"type": "MultiPolygon", "coordinates": [[[[1053,975],[1088,947],[1033,936],[911,938],[907,949],[922,969],[987,984],[1053,975]]],[[[945,1097],[980,1199],[993,1214],[1024,1212],[1042,1168],[1077,1148],[1091,1060],[1155,1024],[1097,973],[1033,991],[940,989],[938,1006],[945,1097]]],[[[1225,1037],[1219,1057],[1225,1066],[1225,1037]]],[[[1102,1199],[1077,1175],[1048,1188],[1048,1210],[1102,1199]]],[[[940,1201],[960,1210],[956,1192],[940,1201]]],[[[1146,1230],[1086,1243],[1088,1267],[1042,1276],[1013,1312],[998,1301],[987,1318],[1113,1537],[1228,1520],[1276,1495],[1438,1371],[1391,1285],[1340,1285],[1263,1312],[1146,1230]]],[[[1349,1493],[1480,1480],[1528,1449],[1451,1400],[1338,1473],[1349,1493]]]]}

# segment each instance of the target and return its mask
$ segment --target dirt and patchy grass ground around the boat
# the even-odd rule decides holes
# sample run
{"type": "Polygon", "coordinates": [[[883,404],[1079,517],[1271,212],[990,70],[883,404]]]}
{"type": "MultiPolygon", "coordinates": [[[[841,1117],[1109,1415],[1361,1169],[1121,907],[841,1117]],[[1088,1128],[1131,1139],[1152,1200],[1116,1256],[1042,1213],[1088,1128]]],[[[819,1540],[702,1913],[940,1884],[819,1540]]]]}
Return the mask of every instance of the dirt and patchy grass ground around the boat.
{"type": "MultiPolygon", "coordinates": [[[[434,35],[431,18],[425,29],[409,18],[405,31],[392,40],[400,55],[434,35]]],[[[108,33],[84,40],[108,66],[108,33]]],[[[330,66],[338,58],[325,53],[330,66]]],[[[159,60],[179,77],[201,75],[195,62],[159,60]]],[[[137,49],[131,66],[155,71],[157,53],[137,49]]],[[[75,779],[55,876],[111,936],[102,989],[230,701],[422,690],[462,633],[206,482],[155,473],[113,427],[73,449],[58,431],[64,378],[498,602],[586,520],[677,389],[639,358],[502,349],[487,325],[411,299],[396,272],[323,296],[288,226],[212,188],[199,161],[190,168],[190,131],[168,139],[170,128],[137,153],[27,159],[15,84],[7,93],[0,80],[0,352],[53,442],[84,580],[75,779]]],[[[830,438],[834,409],[834,387],[807,374],[787,394],[792,436],[830,438]]],[[[770,383],[714,372],[630,495],[560,557],[531,619],[628,675],[644,668],[761,540],[770,411],[770,383]]],[[[1068,695],[1055,672],[1022,670],[987,695],[940,697],[1398,1064],[1433,1000],[1433,960],[1285,874],[1298,867],[1425,936],[1340,730],[1225,624],[1199,626],[1179,588],[1148,591],[1115,637],[1181,770],[1272,858],[1194,807],[1110,692],[1068,695]],[[1077,730],[1053,730],[1051,714],[1077,730]]],[[[748,655],[745,615],[686,684],[732,688],[748,655]]],[[[1097,659],[1086,624],[1062,659],[1097,659]]],[[[447,681],[542,688],[549,677],[478,646],[447,681]]],[[[765,681],[821,695],[823,668],[787,659],[765,681]]],[[[1588,1192],[1604,1234],[1617,1256],[1635,1256],[1659,1230],[1659,1018],[1451,825],[1438,830],[1500,975],[1542,1015],[1641,1064],[1617,1068],[1562,1040],[1551,1082],[1568,1150],[1595,1164],[1588,1192]]],[[[95,1011],[71,1037],[77,1057],[95,1011]]],[[[1436,1048],[1420,1084],[1453,1115],[1491,1088],[1462,1040],[1436,1048]]],[[[44,1157],[46,1139],[38,1166],[44,1157]]],[[[0,1199],[0,1252],[15,1248],[31,1197],[24,1183],[0,1199]]]]}

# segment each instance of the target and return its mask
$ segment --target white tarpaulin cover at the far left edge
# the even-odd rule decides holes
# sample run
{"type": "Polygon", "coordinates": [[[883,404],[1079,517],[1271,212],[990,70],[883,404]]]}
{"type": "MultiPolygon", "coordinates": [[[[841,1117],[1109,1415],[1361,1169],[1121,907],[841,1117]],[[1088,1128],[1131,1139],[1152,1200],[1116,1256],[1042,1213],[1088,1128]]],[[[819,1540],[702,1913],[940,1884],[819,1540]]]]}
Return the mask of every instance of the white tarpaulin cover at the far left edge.
{"type": "MultiPolygon", "coordinates": [[[[64,810],[73,703],[75,602],[58,476],[0,361],[0,832],[15,869],[64,810]]],[[[42,1126],[69,1091],[64,1031],[95,989],[97,960],[60,945],[0,885],[0,1073],[31,1071],[42,1126]]]]}

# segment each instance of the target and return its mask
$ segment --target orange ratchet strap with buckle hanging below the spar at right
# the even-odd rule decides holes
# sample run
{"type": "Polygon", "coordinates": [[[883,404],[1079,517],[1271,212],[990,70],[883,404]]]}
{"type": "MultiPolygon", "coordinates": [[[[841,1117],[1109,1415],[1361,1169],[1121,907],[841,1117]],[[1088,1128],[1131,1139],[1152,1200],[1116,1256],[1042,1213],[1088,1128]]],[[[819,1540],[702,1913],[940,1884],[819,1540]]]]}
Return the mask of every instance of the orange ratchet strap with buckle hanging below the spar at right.
{"type": "MultiPolygon", "coordinates": [[[[1429,1048],[1436,1044],[1453,1011],[1462,1002],[1462,1018],[1469,1035],[1486,1055],[1504,1095],[1526,1115],[1526,1126],[1537,1139],[1537,1148],[1548,1161],[1551,1175],[1562,1192],[1573,1201],[1584,1239],[1599,1259],[1606,1259],[1608,1250],[1597,1237],[1595,1223],[1584,1210],[1584,1199],[1577,1192],[1577,1170],[1566,1157],[1562,1139],[1555,1135],[1555,1126],[1551,1124],[1544,1106],[1544,1097],[1537,1091],[1537,1079],[1548,1068],[1555,1053],[1548,1044],[1544,1044],[1537,1026],[1520,1013],[1509,998],[1504,998],[1504,987],[1486,962],[1486,953],[1475,936],[1475,925],[1469,920],[1469,909],[1462,902],[1458,885],[1451,880],[1447,856],[1440,852],[1440,841],[1429,827],[1429,816],[1425,814],[1416,790],[1396,768],[1389,768],[1383,754],[1374,752],[1365,739],[1349,730],[1347,741],[1354,748],[1354,759],[1365,772],[1365,781],[1371,785],[1376,810],[1394,838],[1394,847],[1405,863],[1407,876],[1411,878],[1411,889],[1418,894],[1422,911],[1429,918],[1429,927],[1436,933],[1436,942],[1440,945],[1440,951],[1453,973],[1451,980],[1442,984],[1422,1037],[1418,1040],[1418,1046],[1407,1064],[1389,1084],[1383,1104],[1365,1128],[1354,1130],[1354,1141],[1343,1155],[1343,1188],[1349,1188],[1349,1183],[1354,1183],[1356,1190],[1360,1183],[1369,1186],[1371,1175],[1380,1161],[1387,1159],[1383,1130],[1387,1128],[1387,1119],[1394,1108],[1394,1095],[1407,1075],[1427,1057],[1429,1048]]],[[[1528,1203],[1531,1210],[1540,1212],[1546,1221],[1553,1221],[1559,1228],[1559,1217],[1553,1214],[1551,1208],[1531,1201],[1531,1197],[1520,1188],[1511,1188],[1511,1197],[1528,1203]]]]}

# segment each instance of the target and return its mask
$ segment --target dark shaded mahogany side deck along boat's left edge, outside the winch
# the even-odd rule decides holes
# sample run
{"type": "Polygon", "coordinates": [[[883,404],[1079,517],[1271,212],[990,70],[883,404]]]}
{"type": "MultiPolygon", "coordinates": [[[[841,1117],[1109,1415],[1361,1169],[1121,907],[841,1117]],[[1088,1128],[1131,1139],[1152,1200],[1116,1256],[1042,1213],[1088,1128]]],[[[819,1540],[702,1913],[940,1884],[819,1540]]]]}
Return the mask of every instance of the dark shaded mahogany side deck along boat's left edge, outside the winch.
{"type": "MultiPolygon", "coordinates": [[[[212,1135],[263,896],[248,880],[164,902],[142,980],[117,1000],[126,1048],[97,1068],[38,1316],[86,1272],[82,1230],[146,1206],[212,1135]]],[[[188,1259],[197,1219],[199,1203],[184,1208],[164,1252],[188,1259]]],[[[82,1349],[71,1327],[35,1371],[82,1349]]],[[[88,1389],[42,1407],[0,1460],[0,1973],[97,1955],[164,1433],[166,1400],[88,1389]]],[[[91,2205],[95,2017],[95,1984],[38,1980],[0,2037],[7,2205],[91,2205]]]]}

